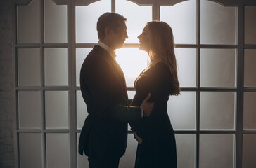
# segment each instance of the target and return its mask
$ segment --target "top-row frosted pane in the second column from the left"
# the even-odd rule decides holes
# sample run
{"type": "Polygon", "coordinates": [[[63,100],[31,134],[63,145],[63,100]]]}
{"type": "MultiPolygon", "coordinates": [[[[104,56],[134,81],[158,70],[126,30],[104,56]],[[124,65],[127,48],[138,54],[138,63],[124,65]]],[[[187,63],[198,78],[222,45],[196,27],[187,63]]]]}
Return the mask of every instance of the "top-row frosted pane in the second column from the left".
{"type": "Polygon", "coordinates": [[[44,0],[44,41],[46,43],[67,43],[68,15],[66,5],[56,5],[44,0]]]}

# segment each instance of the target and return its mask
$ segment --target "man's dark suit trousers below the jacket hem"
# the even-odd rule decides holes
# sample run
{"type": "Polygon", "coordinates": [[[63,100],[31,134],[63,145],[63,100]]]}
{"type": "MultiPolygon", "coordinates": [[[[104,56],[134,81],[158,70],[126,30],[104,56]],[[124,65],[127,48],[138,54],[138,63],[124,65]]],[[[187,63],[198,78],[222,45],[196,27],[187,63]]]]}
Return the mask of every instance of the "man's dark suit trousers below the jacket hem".
{"type": "Polygon", "coordinates": [[[118,168],[120,158],[91,158],[88,157],[89,168],[118,168]]]}

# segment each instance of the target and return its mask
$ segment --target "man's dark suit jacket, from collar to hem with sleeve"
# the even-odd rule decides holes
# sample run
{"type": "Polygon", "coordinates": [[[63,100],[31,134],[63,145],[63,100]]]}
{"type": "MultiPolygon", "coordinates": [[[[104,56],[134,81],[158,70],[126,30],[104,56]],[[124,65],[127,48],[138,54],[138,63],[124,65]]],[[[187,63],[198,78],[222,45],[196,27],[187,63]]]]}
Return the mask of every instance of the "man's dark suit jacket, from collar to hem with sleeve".
{"type": "Polygon", "coordinates": [[[127,146],[127,123],[141,118],[140,107],[127,106],[122,69],[95,45],[82,64],[80,85],[89,115],[79,137],[79,153],[93,158],[121,157],[127,146]]]}

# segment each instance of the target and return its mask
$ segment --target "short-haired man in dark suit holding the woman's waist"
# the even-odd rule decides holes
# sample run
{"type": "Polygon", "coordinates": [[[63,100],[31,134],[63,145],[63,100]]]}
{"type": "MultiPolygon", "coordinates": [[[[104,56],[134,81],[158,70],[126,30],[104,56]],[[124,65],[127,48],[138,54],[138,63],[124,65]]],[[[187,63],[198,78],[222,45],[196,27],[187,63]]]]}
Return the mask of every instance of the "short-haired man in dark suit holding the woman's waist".
{"type": "Polygon", "coordinates": [[[89,115],[79,137],[79,153],[88,156],[90,168],[117,168],[127,146],[127,123],[149,116],[153,103],[129,106],[124,73],[115,61],[115,49],[127,36],[127,19],[117,13],[98,18],[98,44],[84,59],[80,85],[89,115]]]}

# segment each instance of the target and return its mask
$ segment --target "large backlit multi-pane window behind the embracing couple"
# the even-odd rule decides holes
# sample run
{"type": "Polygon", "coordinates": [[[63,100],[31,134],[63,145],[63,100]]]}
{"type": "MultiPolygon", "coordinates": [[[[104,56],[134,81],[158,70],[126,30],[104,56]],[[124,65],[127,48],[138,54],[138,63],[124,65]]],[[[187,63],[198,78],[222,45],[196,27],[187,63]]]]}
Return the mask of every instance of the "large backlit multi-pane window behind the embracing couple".
{"type": "MultiPolygon", "coordinates": [[[[169,97],[179,168],[256,167],[256,3],[253,0],[23,0],[13,5],[16,167],[84,167],[77,152],[87,107],[79,87],[84,58],[105,12],[127,18],[116,51],[127,80],[147,66],[139,40],[146,22],[174,31],[181,95],[169,97]]],[[[128,134],[120,168],[134,167],[128,134]]]]}

